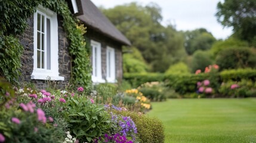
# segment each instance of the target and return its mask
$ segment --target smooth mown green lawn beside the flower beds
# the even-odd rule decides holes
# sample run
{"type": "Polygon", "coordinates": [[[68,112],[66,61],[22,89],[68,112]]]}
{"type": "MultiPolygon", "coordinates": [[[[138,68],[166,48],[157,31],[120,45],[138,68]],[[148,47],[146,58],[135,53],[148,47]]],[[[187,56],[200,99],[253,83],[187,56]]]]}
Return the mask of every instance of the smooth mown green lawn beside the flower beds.
{"type": "Polygon", "coordinates": [[[153,102],[165,142],[256,142],[256,98],[153,102]]]}

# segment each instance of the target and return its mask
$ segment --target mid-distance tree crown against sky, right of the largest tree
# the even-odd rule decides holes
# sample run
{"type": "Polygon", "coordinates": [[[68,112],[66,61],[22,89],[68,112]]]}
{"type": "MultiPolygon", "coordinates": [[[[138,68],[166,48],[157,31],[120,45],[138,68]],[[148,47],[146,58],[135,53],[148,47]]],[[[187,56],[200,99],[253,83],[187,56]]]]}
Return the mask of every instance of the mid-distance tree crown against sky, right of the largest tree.
{"type": "Polygon", "coordinates": [[[187,54],[192,55],[197,50],[206,51],[216,41],[214,36],[206,29],[195,29],[184,32],[185,49],[187,54]]]}

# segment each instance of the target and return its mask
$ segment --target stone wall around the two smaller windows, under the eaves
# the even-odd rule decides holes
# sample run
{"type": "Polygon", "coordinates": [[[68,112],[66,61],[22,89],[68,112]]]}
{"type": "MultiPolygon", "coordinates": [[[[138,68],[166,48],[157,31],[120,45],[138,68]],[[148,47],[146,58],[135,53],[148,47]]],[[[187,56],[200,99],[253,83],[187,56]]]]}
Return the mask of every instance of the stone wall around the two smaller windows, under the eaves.
{"type": "Polygon", "coordinates": [[[106,49],[107,46],[115,49],[115,64],[116,64],[116,79],[122,80],[122,45],[119,42],[114,41],[113,39],[92,30],[91,27],[87,27],[87,33],[85,36],[89,41],[93,40],[101,43],[101,74],[103,79],[106,79],[106,49]]]}

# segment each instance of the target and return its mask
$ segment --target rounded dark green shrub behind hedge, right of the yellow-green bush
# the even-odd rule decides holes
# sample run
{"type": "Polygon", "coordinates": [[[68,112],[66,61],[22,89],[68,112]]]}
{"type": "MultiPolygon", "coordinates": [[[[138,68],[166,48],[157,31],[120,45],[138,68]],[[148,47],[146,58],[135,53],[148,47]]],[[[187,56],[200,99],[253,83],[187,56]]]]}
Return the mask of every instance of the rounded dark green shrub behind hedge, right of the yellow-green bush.
{"type": "Polygon", "coordinates": [[[205,67],[212,64],[211,54],[208,51],[198,50],[193,54],[192,58],[192,72],[196,70],[204,71],[205,67]]]}

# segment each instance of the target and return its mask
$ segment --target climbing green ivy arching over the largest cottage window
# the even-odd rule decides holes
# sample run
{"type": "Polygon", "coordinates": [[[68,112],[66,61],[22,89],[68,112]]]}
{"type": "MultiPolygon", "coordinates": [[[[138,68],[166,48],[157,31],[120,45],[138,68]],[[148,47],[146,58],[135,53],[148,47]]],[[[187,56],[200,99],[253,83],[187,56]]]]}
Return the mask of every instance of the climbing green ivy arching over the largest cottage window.
{"type": "MultiPolygon", "coordinates": [[[[75,85],[84,86],[85,88],[87,88],[87,90],[90,89],[90,55],[87,52],[86,42],[83,36],[86,31],[84,26],[82,24],[79,24],[79,21],[73,17],[66,1],[0,0],[0,26],[4,27],[0,30],[0,34],[3,33],[4,36],[15,36],[23,33],[27,26],[27,18],[31,17],[31,15],[35,13],[36,7],[38,7],[39,4],[43,5],[46,8],[50,8],[51,10],[55,11],[57,14],[63,17],[63,27],[67,32],[67,38],[70,42],[69,53],[72,57],[72,82],[75,85]],[[23,10],[25,10],[25,13],[23,13],[23,10]],[[11,14],[10,11],[12,11],[11,14]]],[[[1,42],[1,39],[0,45],[2,47],[6,47],[5,43],[1,42]]],[[[16,59],[16,62],[19,64],[17,64],[18,66],[16,67],[16,69],[20,69],[20,61],[17,61],[16,59]]],[[[0,64],[1,63],[7,64],[5,62],[2,62],[2,60],[0,61],[0,64]]],[[[1,70],[0,73],[2,73],[1,70]]],[[[4,76],[7,77],[9,76],[9,74],[4,74],[4,76]]]]}

